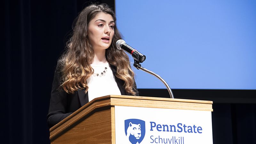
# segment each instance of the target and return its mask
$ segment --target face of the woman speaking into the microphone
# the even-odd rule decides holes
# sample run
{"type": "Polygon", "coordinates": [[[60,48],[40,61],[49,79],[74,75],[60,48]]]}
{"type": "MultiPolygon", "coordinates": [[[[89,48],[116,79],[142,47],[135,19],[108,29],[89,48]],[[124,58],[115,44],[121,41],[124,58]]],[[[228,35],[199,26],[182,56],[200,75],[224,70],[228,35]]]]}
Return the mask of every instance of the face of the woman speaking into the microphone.
{"type": "Polygon", "coordinates": [[[94,51],[107,49],[114,36],[115,22],[110,14],[99,12],[88,24],[88,38],[94,51]]]}

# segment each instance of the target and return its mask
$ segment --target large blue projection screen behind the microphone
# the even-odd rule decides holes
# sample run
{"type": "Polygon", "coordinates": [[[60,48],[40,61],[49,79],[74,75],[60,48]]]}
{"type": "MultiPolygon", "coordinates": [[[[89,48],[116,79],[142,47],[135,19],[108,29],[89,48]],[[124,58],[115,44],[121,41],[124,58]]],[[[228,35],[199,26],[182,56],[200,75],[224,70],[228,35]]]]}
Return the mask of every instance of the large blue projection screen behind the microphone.
{"type": "MultiPolygon", "coordinates": [[[[256,89],[256,1],[116,0],[117,27],[175,89],[256,89]]],[[[130,57],[131,64],[133,59],[130,57]]],[[[165,88],[133,68],[138,88],[165,88]]]]}

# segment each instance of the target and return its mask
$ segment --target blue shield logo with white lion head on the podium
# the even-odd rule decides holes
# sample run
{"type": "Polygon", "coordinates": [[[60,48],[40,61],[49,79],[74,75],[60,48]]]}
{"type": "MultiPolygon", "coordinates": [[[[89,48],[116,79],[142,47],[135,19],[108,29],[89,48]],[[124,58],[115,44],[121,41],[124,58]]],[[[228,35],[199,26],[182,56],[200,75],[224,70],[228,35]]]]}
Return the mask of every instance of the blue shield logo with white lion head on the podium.
{"type": "Polygon", "coordinates": [[[145,136],[145,121],[140,119],[124,120],[124,130],[127,140],[139,144],[145,136]]]}

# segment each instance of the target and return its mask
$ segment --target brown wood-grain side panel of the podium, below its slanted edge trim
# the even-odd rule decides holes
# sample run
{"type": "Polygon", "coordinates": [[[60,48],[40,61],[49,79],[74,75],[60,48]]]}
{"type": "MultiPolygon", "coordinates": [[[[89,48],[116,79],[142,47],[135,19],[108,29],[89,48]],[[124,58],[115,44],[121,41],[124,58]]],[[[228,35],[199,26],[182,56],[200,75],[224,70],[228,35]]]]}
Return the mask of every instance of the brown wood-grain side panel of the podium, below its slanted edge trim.
{"type": "Polygon", "coordinates": [[[52,144],[112,143],[111,109],[95,112],[53,140],[52,144]]]}

